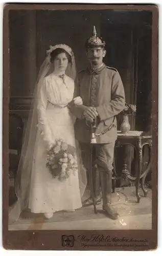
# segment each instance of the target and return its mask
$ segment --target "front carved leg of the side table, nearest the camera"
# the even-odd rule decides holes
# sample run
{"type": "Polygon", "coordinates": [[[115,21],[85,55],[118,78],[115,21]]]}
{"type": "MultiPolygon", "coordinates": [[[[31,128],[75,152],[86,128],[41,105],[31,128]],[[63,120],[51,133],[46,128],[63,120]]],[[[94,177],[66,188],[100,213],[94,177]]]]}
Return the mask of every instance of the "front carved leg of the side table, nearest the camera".
{"type": "Polygon", "coordinates": [[[142,139],[138,140],[138,168],[136,169],[136,180],[135,180],[135,190],[136,190],[136,197],[137,203],[140,203],[140,195],[139,195],[139,185],[140,185],[140,176],[142,172],[142,139]]]}

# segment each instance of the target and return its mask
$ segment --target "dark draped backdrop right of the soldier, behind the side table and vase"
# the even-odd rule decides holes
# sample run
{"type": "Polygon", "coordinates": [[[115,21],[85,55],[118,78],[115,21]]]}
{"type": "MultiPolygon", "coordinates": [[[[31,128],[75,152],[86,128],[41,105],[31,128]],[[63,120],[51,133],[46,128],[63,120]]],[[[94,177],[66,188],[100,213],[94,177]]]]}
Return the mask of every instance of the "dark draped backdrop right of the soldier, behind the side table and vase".
{"type": "MultiPolygon", "coordinates": [[[[101,18],[101,36],[106,41],[107,51],[104,62],[107,66],[118,69],[124,84],[126,102],[137,106],[136,115],[129,117],[131,130],[145,132],[151,126],[151,26],[146,22],[135,26],[134,19],[131,20],[130,16],[127,16],[126,22],[124,14],[118,15],[116,19],[109,14],[101,18]],[[107,17],[110,17],[109,24],[107,17]]],[[[120,130],[122,114],[118,115],[117,120],[120,130]]],[[[147,157],[146,149],[144,163],[147,162],[147,157]]],[[[121,174],[124,163],[128,164],[129,172],[134,175],[137,163],[131,146],[117,149],[118,174],[121,174]]],[[[119,181],[117,185],[129,185],[129,182],[119,181]]]]}

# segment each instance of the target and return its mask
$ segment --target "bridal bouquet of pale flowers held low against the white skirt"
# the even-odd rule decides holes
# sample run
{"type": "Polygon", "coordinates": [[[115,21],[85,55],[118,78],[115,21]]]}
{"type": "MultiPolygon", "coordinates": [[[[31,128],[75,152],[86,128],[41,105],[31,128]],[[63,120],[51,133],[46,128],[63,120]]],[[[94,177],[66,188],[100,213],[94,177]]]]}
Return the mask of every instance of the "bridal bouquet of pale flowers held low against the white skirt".
{"type": "Polygon", "coordinates": [[[53,178],[65,180],[70,173],[75,175],[77,172],[77,156],[74,146],[65,143],[62,139],[48,150],[46,166],[49,168],[53,178]]]}

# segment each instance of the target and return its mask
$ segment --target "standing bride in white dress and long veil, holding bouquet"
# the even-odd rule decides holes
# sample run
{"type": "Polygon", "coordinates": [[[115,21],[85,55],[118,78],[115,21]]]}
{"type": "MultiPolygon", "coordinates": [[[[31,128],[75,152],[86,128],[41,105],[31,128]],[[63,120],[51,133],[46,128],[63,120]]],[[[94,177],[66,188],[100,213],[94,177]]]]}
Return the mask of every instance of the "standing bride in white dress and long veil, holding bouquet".
{"type": "Polygon", "coordinates": [[[68,104],[73,98],[75,58],[70,47],[50,47],[39,72],[17,170],[17,202],[9,214],[16,221],[22,210],[43,213],[75,211],[82,207],[86,171],[75,141],[68,104]]]}

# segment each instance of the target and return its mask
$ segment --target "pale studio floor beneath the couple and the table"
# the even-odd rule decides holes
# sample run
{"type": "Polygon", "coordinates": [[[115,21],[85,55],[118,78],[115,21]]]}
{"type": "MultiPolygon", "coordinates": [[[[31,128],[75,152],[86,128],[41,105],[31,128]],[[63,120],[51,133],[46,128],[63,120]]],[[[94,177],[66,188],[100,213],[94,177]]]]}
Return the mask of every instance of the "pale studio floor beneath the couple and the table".
{"type": "Polygon", "coordinates": [[[75,212],[56,212],[47,220],[42,214],[22,212],[18,222],[9,224],[9,230],[40,229],[151,229],[152,195],[148,190],[146,198],[140,190],[141,201],[136,203],[135,187],[117,188],[112,194],[112,204],[118,208],[119,220],[111,220],[103,214],[102,204],[98,205],[98,214],[92,206],[82,207],[75,212]]]}

